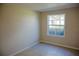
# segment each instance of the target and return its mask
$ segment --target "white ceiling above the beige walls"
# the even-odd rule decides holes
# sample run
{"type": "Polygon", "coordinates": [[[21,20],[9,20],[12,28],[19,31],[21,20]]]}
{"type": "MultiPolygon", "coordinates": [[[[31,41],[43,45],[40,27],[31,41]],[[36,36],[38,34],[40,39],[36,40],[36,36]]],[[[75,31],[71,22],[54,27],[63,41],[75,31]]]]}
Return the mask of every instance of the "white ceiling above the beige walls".
{"type": "Polygon", "coordinates": [[[77,3],[23,3],[20,5],[28,9],[40,12],[78,6],[77,3]]]}

